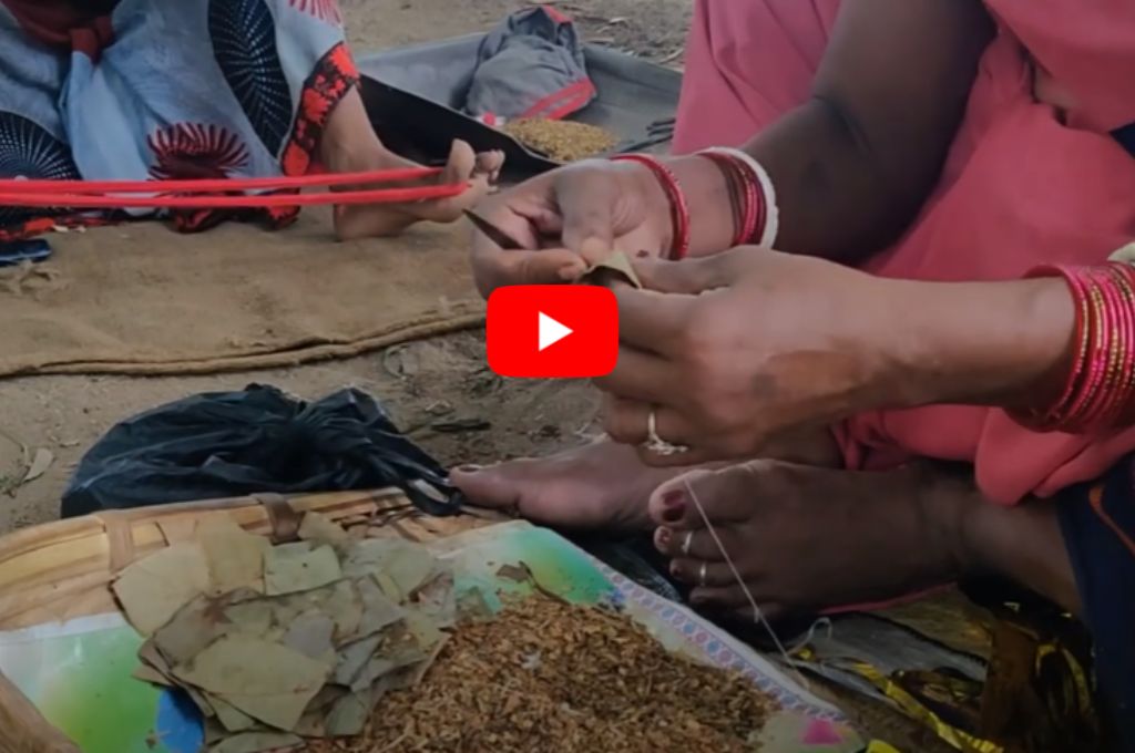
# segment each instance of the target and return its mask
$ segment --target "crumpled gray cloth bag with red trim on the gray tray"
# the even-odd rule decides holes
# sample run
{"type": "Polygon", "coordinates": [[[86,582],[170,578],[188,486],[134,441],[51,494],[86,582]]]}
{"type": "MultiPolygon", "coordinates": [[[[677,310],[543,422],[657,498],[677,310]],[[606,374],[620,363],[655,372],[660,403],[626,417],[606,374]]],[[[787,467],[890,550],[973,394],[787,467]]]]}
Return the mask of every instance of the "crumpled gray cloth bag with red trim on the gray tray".
{"type": "Polygon", "coordinates": [[[512,14],[481,42],[465,112],[558,120],[595,98],[574,24],[545,6],[512,14]]]}

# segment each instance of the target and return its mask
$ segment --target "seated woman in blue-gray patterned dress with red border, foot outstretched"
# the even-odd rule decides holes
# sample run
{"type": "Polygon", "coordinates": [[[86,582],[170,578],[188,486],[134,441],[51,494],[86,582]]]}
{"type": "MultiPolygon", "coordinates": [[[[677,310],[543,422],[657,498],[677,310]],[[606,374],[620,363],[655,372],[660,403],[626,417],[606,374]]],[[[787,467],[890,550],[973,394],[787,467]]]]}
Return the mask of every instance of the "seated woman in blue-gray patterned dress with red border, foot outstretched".
{"type": "MultiPolygon", "coordinates": [[[[375,134],[334,0],[0,0],[0,177],[143,180],[406,167],[375,134]]],[[[456,142],[454,198],[340,206],[340,238],[449,222],[498,153],[456,142]]],[[[0,240],[50,228],[0,206],[0,240]]],[[[266,210],[274,225],[295,209],[266,210]]],[[[184,230],[227,214],[188,211],[184,230]]]]}

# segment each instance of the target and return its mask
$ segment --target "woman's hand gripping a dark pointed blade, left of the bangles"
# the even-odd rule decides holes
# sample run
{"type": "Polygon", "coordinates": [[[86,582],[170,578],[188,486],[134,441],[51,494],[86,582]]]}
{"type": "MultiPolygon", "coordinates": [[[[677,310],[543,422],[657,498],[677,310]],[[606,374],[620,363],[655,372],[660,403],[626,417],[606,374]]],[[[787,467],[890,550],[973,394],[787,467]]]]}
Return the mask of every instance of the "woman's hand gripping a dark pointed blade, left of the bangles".
{"type": "Polygon", "coordinates": [[[502,192],[478,211],[523,246],[505,251],[474,232],[473,277],[486,297],[503,285],[573,280],[615,248],[658,255],[671,244],[666,195],[648,168],[631,162],[560,168],[502,192]]]}

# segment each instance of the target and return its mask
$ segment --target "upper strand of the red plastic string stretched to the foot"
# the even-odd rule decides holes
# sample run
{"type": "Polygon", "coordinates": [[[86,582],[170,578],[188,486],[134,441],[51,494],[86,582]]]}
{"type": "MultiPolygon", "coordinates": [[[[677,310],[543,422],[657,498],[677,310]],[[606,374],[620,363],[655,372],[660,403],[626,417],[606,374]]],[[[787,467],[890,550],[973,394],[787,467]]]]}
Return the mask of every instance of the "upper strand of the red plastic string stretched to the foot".
{"type": "MultiPolygon", "coordinates": [[[[285,188],[312,188],[330,186],[363,185],[396,180],[419,180],[442,174],[442,168],[398,168],[393,170],[369,170],[365,172],[322,172],[305,176],[276,176],[269,178],[202,178],[190,180],[32,180],[23,178],[0,179],[0,193],[168,193],[168,192],[230,192],[268,191],[285,188]]],[[[463,186],[462,186],[463,188],[463,186]]]]}

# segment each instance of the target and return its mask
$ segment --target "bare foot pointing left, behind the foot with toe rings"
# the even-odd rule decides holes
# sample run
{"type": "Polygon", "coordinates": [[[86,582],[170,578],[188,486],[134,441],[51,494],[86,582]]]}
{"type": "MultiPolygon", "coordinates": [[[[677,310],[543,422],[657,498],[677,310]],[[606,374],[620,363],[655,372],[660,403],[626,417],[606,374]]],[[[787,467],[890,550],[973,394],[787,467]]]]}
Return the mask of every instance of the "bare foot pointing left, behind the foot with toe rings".
{"type": "Polygon", "coordinates": [[[633,447],[602,440],[548,458],[463,466],[449,480],[471,502],[558,528],[649,531],[647,500],[686,468],[650,468],[633,447]]]}

